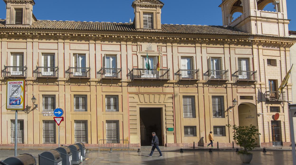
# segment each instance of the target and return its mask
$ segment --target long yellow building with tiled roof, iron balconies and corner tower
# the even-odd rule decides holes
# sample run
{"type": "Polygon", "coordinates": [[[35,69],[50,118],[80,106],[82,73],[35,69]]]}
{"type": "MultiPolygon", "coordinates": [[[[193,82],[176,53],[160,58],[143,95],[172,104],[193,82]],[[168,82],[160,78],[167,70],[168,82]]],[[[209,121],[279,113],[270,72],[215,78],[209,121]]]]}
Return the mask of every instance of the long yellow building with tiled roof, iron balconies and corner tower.
{"type": "Polygon", "coordinates": [[[159,0],[133,1],[129,23],[37,20],[33,0],[4,1],[1,145],[14,140],[15,112],[5,108],[11,79],[26,82],[23,145],[57,143],[58,107],[61,144],[145,146],[156,132],[163,146],[205,146],[212,131],[220,146],[232,146],[226,124],[257,126],[261,146],[291,143],[291,81],[277,90],[295,43],[285,0],[277,12],[262,10],[270,0],[222,1],[223,26],[161,24],[159,0]],[[243,14],[232,20],[234,11],[243,14]]]}

